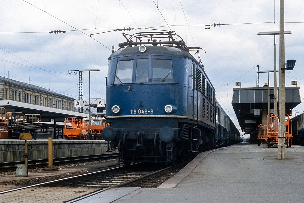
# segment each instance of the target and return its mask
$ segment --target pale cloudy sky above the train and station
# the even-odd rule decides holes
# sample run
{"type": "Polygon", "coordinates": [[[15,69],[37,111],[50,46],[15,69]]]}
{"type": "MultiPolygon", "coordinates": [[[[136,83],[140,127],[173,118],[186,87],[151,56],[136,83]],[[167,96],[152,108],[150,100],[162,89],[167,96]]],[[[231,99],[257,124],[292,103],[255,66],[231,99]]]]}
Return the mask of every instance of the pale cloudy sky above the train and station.
{"type": "MultiPolygon", "coordinates": [[[[279,0],[0,0],[0,75],[78,98],[78,75],[69,70],[98,68],[91,74],[91,97],[105,98],[107,58],[111,47],[124,42],[124,27],[174,30],[187,46],[202,47],[205,70],[217,99],[237,122],[231,100],[235,82],[256,86],[256,65],[273,69],[273,36],[279,30],[279,0]],[[274,23],[276,22],[276,23],[274,23]],[[225,24],[220,27],[204,25],[225,24]],[[186,26],[187,25],[187,26],[186,26]],[[66,33],[48,33],[64,30],[66,33]],[[81,31],[79,31],[81,30],[81,31]],[[92,35],[88,34],[101,33],[92,35]],[[245,74],[246,73],[246,74],[245,74]]],[[[285,59],[296,59],[286,72],[304,84],[304,1],[285,0],[285,59]]],[[[140,31],[131,30],[126,33],[140,31]]],[[[279,37],[277,44],[277,67],[279,37]]],[[[273,73],[269,74],[273,86],[273,73]]],[[[88,73],[83,73],[83,95],[88,98],[88,73]]],[[[267,73],[260,74],[260,86],[267,73]]],[[[301,98],[304,96],[300,89],[301,98]]],[[[302,112],[299,105],[294,112],[302,112]]]]}

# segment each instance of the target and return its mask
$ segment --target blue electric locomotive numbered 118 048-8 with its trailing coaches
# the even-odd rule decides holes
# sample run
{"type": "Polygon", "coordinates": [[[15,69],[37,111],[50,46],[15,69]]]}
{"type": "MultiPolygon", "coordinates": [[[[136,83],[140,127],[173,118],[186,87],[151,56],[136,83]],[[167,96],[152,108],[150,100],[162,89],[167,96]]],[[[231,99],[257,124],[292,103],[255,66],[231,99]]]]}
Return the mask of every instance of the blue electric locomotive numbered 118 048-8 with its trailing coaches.
{"type": "Polygon", "coordinates": [[[108,58],[110,126],[102,130],[110,148],[118,148],[121,162],[174,165],[240,142],[240,131],[216,101],[201,60],[189,53],[199,55],[201,48],[187,47],[173,31],[123,36],[127,42],[108,58]]]}

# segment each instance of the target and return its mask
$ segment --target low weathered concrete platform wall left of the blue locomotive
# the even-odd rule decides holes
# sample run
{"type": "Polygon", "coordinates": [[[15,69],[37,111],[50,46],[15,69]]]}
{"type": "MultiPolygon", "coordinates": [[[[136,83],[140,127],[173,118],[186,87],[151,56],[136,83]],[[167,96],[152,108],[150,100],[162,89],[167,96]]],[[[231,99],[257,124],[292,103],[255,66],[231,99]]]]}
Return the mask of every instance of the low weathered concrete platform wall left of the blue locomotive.
{"type": "MultiPolygon", "coordinates": [[[[29,143],[29,141],[27,141],[29,143]]],[[[48,158],[48,140],[32,140],[28,147],[29,160],[48,158]]],[[[104,140],[53,140],[54,158],[106,154],[104,140]]],[[[117,150],[116,150],[117,152],[117,150]]],[[[24,140],[0,140],[0,163],[23,161],[24,140]]]]}

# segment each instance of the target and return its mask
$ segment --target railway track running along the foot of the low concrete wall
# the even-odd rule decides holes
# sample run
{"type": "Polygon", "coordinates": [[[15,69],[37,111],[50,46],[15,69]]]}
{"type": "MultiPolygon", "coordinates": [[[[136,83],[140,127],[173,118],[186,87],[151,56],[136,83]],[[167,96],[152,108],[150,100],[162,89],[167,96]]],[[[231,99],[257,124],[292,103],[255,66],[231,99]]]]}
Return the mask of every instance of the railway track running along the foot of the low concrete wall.
{"type": "MultiPolygon", "coordinates": [[[[118,158],[118,153],[86,155],[86,156],[71,156],[71,157],[54,158],[53,163],[54,164],[65,164],[65,163],[73,163],[73,162],[116,159],[116,158],[118,158]]],[[[16,169],[16,166],[18,163],[24,163],[24,161],[0,163],[0,171],[16,169]]],[[[47,166],[47,165],[48,165],[48,159],[29,160],[29,168],[42,167],[42,166],[47,166]]]]}

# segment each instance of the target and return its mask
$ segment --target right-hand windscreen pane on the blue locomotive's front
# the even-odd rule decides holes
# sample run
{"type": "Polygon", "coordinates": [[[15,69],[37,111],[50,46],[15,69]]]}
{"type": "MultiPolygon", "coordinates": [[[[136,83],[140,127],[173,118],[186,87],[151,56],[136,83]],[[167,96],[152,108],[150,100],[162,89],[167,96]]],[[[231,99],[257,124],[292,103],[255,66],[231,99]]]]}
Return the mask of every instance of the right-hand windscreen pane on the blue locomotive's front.
{"type": "Polygon", "coordinates": [[[151,82],[174,82],[172,61],[170,59],[152,59],[151,82]]]}

